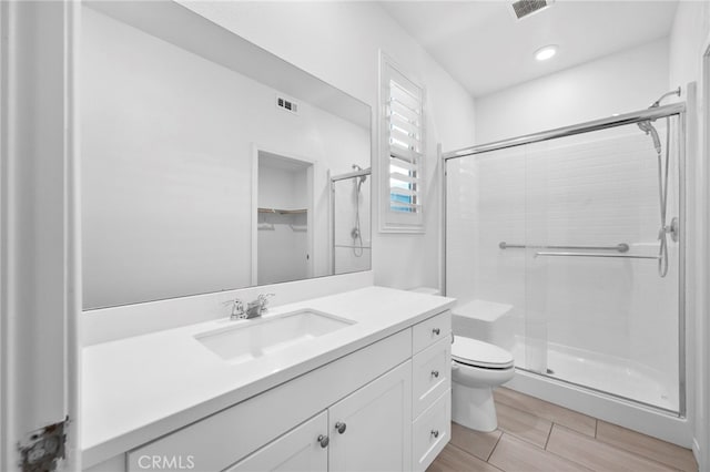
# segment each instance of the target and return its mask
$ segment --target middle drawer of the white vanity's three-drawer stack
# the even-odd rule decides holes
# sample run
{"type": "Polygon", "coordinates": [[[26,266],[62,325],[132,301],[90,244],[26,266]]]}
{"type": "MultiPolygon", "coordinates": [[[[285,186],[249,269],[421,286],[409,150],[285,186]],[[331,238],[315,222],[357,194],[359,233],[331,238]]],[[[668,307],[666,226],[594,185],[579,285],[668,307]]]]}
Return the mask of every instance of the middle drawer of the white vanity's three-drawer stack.
{"type": "Polygon", "coordinates": [[[452,340],[440,339],[414,356],[412,362],[412,418],[417,418],[452,388],[452,340]]]}

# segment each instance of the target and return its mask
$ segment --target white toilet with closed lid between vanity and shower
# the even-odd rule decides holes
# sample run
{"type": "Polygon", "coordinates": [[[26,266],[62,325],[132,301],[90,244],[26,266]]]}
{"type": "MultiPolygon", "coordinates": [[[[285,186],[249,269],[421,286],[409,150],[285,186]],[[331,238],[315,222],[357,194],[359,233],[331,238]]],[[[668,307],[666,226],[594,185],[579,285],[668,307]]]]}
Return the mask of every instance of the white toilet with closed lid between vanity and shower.
{"type": "Polygon", "coordinates": [[[513,379],[513,356],[477,339],[454,336],[452,345],[452,419],[476,431],[498,428],[493,389],[513,379]]]}

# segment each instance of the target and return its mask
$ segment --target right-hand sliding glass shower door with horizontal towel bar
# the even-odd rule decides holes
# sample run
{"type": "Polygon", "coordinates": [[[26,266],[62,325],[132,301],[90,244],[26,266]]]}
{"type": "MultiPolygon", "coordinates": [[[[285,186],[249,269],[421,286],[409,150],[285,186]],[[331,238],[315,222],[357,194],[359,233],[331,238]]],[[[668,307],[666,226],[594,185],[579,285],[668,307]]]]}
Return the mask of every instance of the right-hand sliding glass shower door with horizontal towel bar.
{"type": "MultiPolygon", "coordinates": [[[[677,143],[636,124],[527,145],[526,358],[535,372],[679,411],[677,143]],[[660,185],[660,186],[659,186],[660,185]],[[662,239],[661,239],[662,240],[662,239]],[[666,257],[666,256],[662,256],[666,257]]],[[[671,133],[672,136],[672,133],[671,133]]]]}

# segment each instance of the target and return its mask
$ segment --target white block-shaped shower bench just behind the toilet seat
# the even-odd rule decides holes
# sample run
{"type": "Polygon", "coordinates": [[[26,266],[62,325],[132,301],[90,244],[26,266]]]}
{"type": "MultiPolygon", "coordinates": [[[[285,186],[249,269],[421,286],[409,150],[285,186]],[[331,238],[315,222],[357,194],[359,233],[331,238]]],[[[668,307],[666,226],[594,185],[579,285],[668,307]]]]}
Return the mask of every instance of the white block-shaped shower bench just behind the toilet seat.
{"type": "Polygon", "coordinates": [[[474,299],[452,309],[454,334],[511,351],[515,346],[513,305],[474,299]]]}

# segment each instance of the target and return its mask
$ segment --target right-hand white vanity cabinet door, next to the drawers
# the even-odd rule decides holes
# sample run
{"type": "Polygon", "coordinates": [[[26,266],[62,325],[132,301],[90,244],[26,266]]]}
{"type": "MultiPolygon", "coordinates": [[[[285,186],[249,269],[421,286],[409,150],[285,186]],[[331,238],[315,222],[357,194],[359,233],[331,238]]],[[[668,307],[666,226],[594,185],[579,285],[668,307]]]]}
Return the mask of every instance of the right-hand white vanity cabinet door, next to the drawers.
{"type": "Polygon", "coordinates": [[[409,471],[412,361],[345,397],[328,417],[331,471],[409,471]]]}

